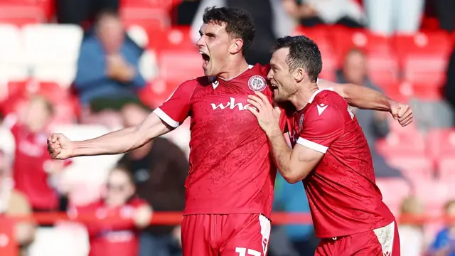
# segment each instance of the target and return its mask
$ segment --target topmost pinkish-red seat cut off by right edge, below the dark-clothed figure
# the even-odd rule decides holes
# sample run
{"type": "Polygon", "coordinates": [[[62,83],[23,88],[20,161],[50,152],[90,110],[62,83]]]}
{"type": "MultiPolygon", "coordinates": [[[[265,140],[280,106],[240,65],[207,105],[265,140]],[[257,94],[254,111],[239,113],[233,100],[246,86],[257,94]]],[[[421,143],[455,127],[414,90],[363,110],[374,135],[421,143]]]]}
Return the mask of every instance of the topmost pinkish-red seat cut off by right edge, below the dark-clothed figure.
{"type": "Polygon", "coordinates": [[[428,154],[434,159],[455,158],[455,129],[432,129],[427,136],[428,154]]]}

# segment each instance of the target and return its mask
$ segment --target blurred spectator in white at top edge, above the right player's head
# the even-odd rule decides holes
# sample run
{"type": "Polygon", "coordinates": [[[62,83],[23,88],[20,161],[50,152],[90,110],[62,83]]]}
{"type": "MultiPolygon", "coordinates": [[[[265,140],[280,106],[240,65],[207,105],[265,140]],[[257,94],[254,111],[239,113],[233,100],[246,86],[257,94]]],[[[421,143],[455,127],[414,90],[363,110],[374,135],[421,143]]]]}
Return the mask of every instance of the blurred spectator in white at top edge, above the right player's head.
{"type": "Polygon", "coordinates": [[[350,28],[365,26],[362,7],[353,0],[283,0],[287,13],[303,26],[338,24],[350,28]]]}

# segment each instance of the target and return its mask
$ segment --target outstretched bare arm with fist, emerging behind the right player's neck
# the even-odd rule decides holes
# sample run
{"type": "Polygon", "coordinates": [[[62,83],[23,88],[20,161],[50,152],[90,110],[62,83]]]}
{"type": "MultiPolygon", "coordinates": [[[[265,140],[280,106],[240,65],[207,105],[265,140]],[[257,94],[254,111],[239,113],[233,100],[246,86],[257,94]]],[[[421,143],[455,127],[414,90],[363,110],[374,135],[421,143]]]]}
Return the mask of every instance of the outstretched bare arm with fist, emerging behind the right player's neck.
{"type": "Polygon", "coordinates": [[[381,92],[365,86],[354,84],[339,84],[328,80],[319,79],[318,86],[321,89],[333,88],[333,91],[345,98],[349,105],[362,110],[379,110],[390,112],[395,120],[402,126],[412,122],[412,110],[410,106],[395,102],[381,92]]]}

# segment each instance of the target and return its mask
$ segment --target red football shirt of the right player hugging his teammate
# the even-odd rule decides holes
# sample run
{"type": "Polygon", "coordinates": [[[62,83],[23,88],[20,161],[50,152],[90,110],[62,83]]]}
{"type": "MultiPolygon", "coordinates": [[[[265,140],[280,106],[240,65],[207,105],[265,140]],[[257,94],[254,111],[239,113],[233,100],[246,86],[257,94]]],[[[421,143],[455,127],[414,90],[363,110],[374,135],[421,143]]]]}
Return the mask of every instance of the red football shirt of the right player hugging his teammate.
{"type": "Polygon", "coordinates": [[[319,238],[373,230],[395,220],[375,184],[365,135],[343,97],[319,90],[291,122],[293,146],[325,154],[303,181],[319,238]]]}

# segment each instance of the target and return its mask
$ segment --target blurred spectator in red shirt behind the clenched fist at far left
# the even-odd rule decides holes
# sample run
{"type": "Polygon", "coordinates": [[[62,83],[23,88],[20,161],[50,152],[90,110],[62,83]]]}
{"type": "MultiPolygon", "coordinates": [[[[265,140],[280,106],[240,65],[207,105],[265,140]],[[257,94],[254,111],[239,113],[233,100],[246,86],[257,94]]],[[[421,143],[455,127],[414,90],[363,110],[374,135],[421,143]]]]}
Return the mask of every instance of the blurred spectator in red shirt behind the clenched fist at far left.
{"type": "Polygon", "coordinates": [[[28,101],[23,114],[9,115],[4,120],[16,144],[14,186],[27,196],[35,211],[58,210],[59,196],[51,183],[71,162],[53,160],[48,154],[48,124],[53,112],[48,100],[36,96],[28,101]]]}

